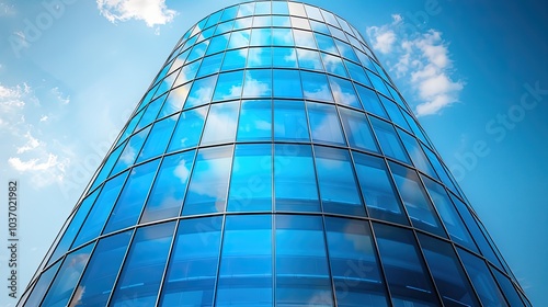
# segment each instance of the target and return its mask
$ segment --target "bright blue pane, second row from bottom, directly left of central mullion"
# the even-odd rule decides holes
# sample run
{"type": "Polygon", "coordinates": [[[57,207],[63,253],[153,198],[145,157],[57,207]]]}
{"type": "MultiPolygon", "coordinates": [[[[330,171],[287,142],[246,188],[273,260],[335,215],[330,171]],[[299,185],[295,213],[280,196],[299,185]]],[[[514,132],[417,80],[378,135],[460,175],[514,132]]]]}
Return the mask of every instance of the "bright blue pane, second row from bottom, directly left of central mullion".
{"type": "Polygon", "coordinates": [[[228,212],[272,209],[272,146],[238,145],[235,150],[228,212]]]}

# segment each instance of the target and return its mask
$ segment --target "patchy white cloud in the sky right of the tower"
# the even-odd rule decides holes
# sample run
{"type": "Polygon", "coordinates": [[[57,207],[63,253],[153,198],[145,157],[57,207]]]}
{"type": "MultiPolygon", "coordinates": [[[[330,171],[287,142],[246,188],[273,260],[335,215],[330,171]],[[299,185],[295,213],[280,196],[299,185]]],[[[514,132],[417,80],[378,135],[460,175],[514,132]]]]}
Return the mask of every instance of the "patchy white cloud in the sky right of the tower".
{"type": "Polygon", "coordinates": [[[385,55],[387,67],[410,87],[415,114],[438,114],[458,102],[465,82],[454,77],[449,44],[442,38],[442,33],[429,30],[407,35],[403,19],[392,15],[392,20],[390,24],[368,27],[367,34],[373,47],[385,55]]]}

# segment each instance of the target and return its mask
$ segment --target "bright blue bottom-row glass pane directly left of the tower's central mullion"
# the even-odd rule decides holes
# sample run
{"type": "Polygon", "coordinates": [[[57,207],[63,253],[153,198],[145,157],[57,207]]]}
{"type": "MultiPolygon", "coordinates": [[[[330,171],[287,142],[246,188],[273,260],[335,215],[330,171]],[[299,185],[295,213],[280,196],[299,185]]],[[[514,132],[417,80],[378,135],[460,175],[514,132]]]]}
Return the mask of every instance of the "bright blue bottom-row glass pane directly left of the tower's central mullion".
{"type": "Polygon", "coordinates": [[[272,217],[227,216],[215,306],[272,306],[272,217]]]}

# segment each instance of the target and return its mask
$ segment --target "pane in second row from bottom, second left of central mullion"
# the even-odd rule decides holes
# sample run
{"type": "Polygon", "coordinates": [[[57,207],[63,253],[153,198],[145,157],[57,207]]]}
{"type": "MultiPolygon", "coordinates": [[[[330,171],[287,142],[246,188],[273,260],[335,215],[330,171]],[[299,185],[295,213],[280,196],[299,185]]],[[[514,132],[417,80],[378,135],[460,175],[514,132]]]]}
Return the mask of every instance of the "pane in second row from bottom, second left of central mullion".
{"type": "Polygon", "coordinates": [[[183,215],[225,211],[232,146],[201,149],[194,163],[183,215]]]}

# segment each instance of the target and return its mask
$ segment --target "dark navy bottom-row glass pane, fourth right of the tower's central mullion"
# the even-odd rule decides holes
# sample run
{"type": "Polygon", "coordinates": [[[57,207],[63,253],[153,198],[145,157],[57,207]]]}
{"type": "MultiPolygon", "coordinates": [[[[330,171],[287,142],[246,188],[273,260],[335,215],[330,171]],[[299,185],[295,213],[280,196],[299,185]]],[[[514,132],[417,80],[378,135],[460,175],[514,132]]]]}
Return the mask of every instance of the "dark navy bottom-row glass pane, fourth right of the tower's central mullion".
{"type": "Polygon", "coordinates": [[[446,306],[480,306],[449,243],[419,234],[419,241],[446,306]]]}

